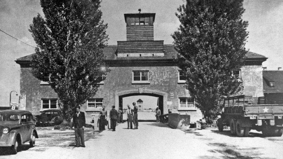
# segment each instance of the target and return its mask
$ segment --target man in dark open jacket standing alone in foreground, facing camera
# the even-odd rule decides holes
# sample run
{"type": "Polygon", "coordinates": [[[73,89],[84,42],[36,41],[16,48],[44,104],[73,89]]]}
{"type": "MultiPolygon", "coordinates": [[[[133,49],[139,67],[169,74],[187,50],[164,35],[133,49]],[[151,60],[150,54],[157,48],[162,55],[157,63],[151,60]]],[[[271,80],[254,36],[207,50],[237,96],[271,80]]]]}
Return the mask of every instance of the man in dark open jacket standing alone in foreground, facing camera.
{"type": "Polygon", "coordinates": [[[75,129],[76,147],[86,147],[84,145],[84,127],[86,126],[86,117],[81,107],[76,107],[76,113],[73,115],[72,128],[75,129]]]}

